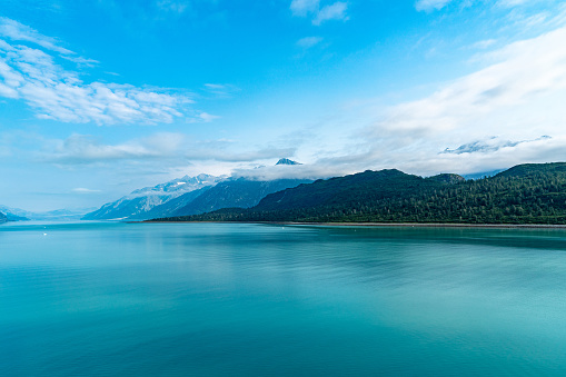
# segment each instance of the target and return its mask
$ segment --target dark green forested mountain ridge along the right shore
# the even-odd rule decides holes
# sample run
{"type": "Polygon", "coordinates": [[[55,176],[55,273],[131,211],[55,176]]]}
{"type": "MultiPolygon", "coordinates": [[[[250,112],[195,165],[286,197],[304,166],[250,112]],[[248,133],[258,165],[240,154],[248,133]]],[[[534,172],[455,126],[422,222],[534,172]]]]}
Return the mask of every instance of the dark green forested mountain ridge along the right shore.
{"type": "Polygon", "coordinates": [[[168,220],[566,224],[566,162],[519,165],[477,180],[367,170],[278,191],[250,209],[168,220]]]}

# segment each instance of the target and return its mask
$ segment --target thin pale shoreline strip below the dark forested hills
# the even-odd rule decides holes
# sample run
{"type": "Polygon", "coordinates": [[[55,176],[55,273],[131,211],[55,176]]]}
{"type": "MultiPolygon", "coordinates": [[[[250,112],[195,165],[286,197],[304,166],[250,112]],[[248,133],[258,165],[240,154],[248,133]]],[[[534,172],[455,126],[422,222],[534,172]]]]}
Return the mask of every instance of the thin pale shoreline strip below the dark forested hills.
{"type": "Polygon", "coordinates": [[[400,228],[489,228],[489,229],[566,229],[553,224],[458,224],[458,222],[294,222],[294,221],[127,221],[128,224],[258,224],[322,227],[400,227],[400,228]]]}

